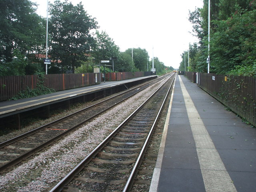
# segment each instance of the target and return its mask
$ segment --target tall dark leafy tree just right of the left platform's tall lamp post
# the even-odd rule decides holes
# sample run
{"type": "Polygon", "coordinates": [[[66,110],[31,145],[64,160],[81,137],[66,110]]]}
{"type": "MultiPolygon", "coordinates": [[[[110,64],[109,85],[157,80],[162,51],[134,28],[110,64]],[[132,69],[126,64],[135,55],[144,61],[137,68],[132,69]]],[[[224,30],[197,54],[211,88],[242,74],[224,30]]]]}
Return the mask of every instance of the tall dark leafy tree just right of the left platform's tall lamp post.
{"type": "Polygon", "coordinates": [[[66,0],[56,0],[50,4],[49,37],[50,54],[56,66],[64,70],[72,70],[79,66],[78,60],[86,60],[94,46],[94,38],[90,30],[98,28],[95,18],[91,18],[84,10],[82,2],[74,6],[66,0]]]}

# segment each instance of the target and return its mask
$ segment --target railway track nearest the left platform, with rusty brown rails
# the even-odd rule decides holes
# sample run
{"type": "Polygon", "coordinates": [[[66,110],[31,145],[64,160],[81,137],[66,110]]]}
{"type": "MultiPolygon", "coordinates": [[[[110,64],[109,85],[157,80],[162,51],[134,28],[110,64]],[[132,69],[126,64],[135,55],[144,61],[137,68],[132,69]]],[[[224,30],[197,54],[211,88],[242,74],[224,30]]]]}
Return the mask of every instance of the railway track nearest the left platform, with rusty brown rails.
{"type": "Polygon", "coordinates": [[[54,122],[0,143],[0,172],[18,164],[24,158],[28,158],[35,152],[52,144],[102,112],[112,108],[159,80],[161,80],[161,78],[127,90],[126,92],[84,108],[64,118],[60,118],[54,122]]]}

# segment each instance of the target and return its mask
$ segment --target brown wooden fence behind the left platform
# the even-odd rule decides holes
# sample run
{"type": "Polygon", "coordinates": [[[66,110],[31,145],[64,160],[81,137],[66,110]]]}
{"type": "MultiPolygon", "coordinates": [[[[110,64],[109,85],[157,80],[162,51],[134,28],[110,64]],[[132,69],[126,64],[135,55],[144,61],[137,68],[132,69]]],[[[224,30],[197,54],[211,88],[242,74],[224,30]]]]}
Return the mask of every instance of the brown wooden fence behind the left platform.
{"type": "MultiPolygon", "coordinates": [[[[111,73],[112,81],[120,81],[130,78],[151,75],[151,72],[116,72],[111,73]]],[[[109,73],[106,74],[106,81],[110,80],[109,73]]],[[[37,75],[25,76],[0,76],[0,101],[8,100],[18,92],[26,88],[34,89],[39,82],[37,75]]],[[[99,73],[84,74],[48,74],[42,78],[44,86],[55,91],[62,91],[83,86],[100,84],[99,73]]],[[[101,79],[103,81],[103,79],[101,79]]]]}

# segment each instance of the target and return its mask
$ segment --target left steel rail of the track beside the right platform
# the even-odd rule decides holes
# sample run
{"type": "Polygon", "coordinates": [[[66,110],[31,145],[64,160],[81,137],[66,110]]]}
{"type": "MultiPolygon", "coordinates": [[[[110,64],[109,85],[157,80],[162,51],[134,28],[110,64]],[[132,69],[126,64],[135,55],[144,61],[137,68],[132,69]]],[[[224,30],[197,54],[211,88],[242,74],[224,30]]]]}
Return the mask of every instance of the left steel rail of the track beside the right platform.
{"type": "MultiPolygon", "coordinates": [[[[173,76],[174,74],[172,74],[173,76]]],[[[170,78],[172,77],[170,76],[170,78]]],[[[170,79],[168,78],[168,80],[170,79]]],[[[153,94],[151,94],[136,110],[134,110],[134,112],[132,112],[132,114],[130,114],[113,132],[111,132],[96,148],[94,148],[94,150],[92,150],[92,152],[90,152],[90,154],[88,154],[88,156],[86,156],[73,170],[71,170],[58,184],[56,184],[56,186],[54,186],[54,188],[52,188],[52,190],[50,190],[50,192],[60,192],[62,191],[62,189],[65,187],[65,185],[67,183],[69,183],[76,174],[78,174],[86,164],[88,164],[92,158],[94,158],[98,152],[100,150],[102,150],[102,148],[104,148],[104,146],[109,142],[109,140],[111,140],[120,130],[120,128],[122,128],[122,126],[128,122],[128,120],[130,120],[130,118],[132,118],[132,116],[134,116],[134,114],[136,114],[136,112],[138,112],[147,102],[148,100],[150,100],[150,98],[152,98],[157,92],[158,90],[160,90],[160,88],[162,88],[162,86],[164,86],[164,84],[168,81],[166,80],[153,94]]]]}

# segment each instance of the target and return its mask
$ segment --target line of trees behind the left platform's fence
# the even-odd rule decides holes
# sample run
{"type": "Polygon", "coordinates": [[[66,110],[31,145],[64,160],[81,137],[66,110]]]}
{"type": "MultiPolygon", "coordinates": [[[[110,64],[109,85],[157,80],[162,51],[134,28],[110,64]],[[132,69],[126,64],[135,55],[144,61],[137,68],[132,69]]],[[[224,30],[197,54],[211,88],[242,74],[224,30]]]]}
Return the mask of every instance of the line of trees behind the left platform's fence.
{"type": "MultiPolygon", "coordinates": [[[[37,6],[30,0],[0,1],[0,76],[44,74],[46,57],[46,18],[36,14],[37,6]]],[[[98,30],[96,18],[88,15],[80,2],[55,0],[49,4],[48,74],[93,72],[100,60],[114,61],[116,72],[146,71],[152,60],[146,49],[120,48],[104,31],[98,30]]],[[[154,58],[157,74],[172,67],[154,58]]],[[[109,70],[109,69],[108,69],[109,70]]]]}

